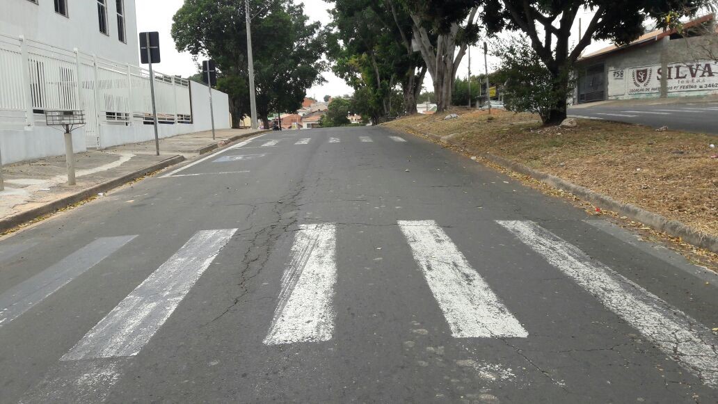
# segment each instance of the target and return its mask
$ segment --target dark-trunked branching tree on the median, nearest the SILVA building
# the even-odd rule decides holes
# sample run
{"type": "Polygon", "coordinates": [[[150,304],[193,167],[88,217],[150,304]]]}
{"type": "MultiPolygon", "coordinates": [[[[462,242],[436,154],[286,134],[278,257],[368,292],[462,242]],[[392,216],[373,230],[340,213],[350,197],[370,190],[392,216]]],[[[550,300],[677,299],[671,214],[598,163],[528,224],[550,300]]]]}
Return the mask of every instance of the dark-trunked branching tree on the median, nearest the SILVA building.
{"type": "MultiPolygon", "coordinates": [[[[490,34],[505,29],[521,31],[551,75],[552,93],[566,93],[574,62],[594,39],[626,44],[643,34],[643,22],[655,19],[666,27],[666,15],[694,15],[705,0],[485,0],[482,20],[490,34]],[[575,47],[569,47],[574,21],[582,9],[595,12],[575,47]]],[[[556,99],[546,111],[544,124],[561,123],[567,100],[556,99]]]]}

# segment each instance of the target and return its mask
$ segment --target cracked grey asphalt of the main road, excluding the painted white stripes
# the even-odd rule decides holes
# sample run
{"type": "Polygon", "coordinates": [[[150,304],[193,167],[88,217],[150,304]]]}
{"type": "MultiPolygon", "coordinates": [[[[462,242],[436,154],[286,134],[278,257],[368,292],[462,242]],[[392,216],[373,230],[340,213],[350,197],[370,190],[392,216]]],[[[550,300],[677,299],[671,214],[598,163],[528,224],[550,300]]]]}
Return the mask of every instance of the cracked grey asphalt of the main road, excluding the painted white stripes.
{"type": "Polygon", "coordinates": [[[381,127],[327,128],[267,133],[177,174],[0,240],[1,297],[95,239],[137,236],[0,325],[0,403],[28,397],[192,235],[228,228],[162,327],[116,358],[111,385],[83,400],[65,385],[50,401],[718,402],[701,370],[676,360],[691,352],[661,351],[495,221],[538,223],[707,329],[718,327],[717,276],[465,156],[381,127]],[[452,336],[401,220],[435,221],[528,337],[452,336]],[[331,339],[264,344],[295,236],[317,223],[336,228],[331,339]]]}

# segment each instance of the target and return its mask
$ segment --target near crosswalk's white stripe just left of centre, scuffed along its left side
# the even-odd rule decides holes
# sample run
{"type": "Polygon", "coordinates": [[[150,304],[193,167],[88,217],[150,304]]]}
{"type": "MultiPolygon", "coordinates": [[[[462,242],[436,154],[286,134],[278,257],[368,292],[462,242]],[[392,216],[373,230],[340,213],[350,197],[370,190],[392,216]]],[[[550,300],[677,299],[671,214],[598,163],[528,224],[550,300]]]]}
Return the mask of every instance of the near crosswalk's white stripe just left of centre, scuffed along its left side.
{"type": "Polygon", "coordinates": [[[281,278],[279,304],[264,344],[332,339],[337,282],[336,226],[302,225],[294,236],[291,260],[281,278]]]}

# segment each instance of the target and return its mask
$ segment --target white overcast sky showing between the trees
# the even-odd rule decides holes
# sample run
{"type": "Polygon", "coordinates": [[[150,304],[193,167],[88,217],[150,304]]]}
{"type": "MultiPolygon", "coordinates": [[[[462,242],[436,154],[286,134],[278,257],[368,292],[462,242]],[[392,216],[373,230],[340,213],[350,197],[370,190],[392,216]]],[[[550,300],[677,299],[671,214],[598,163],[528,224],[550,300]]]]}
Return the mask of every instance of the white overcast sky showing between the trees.
{"type": "MultiPolygon", "coordinates": [[[[312,21],[319,21],[322,25],[330,22],[327,9],[329,9],[332,4],[327,4],[324,0],[294,0],[294,2],[304,3],[304,12],[312,21]]],[[[169,34],[169,30],[172,27],[172,16],[174,16],[177,9],[180,9],[180,6],[182,6],[183,3],[184,0],[137,1],[137,29],[138,32],[159,32],[159,43],[162,46],[162,63],[157,65],[157,71],[168,75],[182,75],[183,77],[187,77],[197,72],[195,62],[192,61],[192,55],[189,53],[180,53],[175,50],[174,41],[169,34]]],[[[589,13],[584,13],[579,17],[583,17],[585,27],[591,15],[589,13]]],[[[577,26],[574,27],[574,33],[578,34],[577,26]]],[[[589,46],[587,52],[603,46],[605,46],[605,43],[592,44],[589,46]]],[[[471,54],[472,73],[477,74],[478,72],[483,72],[484,62],[481,47],[472,47],[471,54]]],[[[488,59],[489,70],[493,70],[497,60],[490,56],[488,59]]],[[[464,60],[462,60],[462,64],[457,72],[457,77],[466,77],[468,66],[468,58],[464,57],[464,60]]],[[[344,80],[335,76],[332,72],[324,72],[323,76],[327,79],[327,83],[314,86],[307,90],[308,96],[321,99],[327,94],[344,95],[353,93],[353,89],[346,85],[344,80]]],[[[429,75],[426,75],[424,87],[429,90],[432,89],[432,79],[429,75]]]]}

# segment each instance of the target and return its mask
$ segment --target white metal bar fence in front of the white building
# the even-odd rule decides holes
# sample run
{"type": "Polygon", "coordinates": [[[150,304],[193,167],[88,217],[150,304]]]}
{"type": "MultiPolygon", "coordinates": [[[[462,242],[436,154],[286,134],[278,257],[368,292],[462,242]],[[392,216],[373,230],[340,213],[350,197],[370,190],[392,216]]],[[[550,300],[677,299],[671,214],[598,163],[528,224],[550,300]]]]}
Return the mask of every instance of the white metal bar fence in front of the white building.
{"type": "MultiPolygon", "coordinates": [[[[103,123],[154,120],[149,80],[143,67],[0,34],[0,128],[34,126],[45,110],[83,110],[86,145],[98,147],[103,123]]],[[[190,83],[154,72],[154,84],[158,121],[192,123],[190,83]]]]}

